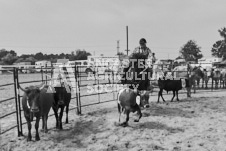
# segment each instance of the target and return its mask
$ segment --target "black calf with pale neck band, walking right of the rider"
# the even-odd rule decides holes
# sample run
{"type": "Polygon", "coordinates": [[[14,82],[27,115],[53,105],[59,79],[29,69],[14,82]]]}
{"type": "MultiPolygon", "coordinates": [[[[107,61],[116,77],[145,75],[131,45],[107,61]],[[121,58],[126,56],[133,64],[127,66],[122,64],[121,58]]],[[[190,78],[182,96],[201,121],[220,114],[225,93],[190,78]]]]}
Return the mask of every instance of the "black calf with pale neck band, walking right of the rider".
{"type": "Polygon", "coordinates": [[[159,78],[158,86],[159,86],[160,90],[159,90],[159,93],[158,93],[157,103],[159,103],[159,97],[160,96],[162,97],[162,100],[165,102],[165,100],[162,96],[163,90],[166,90],[167,93],[168,93],[168,91],[173,91],[173,98],[171,99],[171,102],[173,101],[173,99],[175,97],[175,93],[177,95],[177,101],[179,101],[178,91],[183,88],[183,85],[187,88],[190,87],[190,81],[188,79],[166,79],[165,77],[159,78]]]}

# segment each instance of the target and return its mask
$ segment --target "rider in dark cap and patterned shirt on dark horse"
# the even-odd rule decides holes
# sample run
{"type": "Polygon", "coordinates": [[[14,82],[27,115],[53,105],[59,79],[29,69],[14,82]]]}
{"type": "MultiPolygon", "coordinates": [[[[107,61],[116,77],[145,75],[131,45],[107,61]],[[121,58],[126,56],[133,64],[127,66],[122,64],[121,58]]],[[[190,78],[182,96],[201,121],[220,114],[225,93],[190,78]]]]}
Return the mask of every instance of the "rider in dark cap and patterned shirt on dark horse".
{"type": "MultiPolygon", "coordinates": [[[[146,72],[149,72],[150,75],[152,76],[152,68],[151,68],[151,66],[156,61],[156,58],[155,58],[155,54],[152,53],[151,49],[149,49],[146,46],[146,43],[147,43],[146,39],[141,38],[140,41],[139,41],[140,46],[136,47],[135,50],[133,51],[133,53],[129,57],[132,58],[132,56],[134,54],[137,54],[137,53],[143,54],[145,56],[145,59],[144,59],[145,60],[145,63],[144,63],[145,69],[144,70],[146,72]]],[[[122,79],[126,78],[126,72],[131,68],[131,66],[132,66],[132,62],[129,63],[128,67],[123,69],[122,79]]],[[[150,82],[148,83],[148,87],[149,86],[150,86],[150,82]]]]}

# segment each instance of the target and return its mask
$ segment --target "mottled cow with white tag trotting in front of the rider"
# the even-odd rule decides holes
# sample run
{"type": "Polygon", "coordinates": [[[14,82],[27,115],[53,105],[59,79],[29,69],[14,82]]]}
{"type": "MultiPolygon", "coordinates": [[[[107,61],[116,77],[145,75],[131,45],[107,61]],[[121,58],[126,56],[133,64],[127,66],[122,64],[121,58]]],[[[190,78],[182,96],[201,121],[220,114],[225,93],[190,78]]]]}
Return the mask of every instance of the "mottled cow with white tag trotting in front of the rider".
{"type": "Polygon", "coordinates": [[[119,112],[119,123],[121,113],[124,112],[126,114],[126,121],[120,123],[121,126],[127,126],[129,121],[130,112],[138,113],[138,119],[134,120],[134,122],[139,122],[142,117],[140,107],[148,108],[149,107],[149,93],[150,91],[138,91],[137,89],[124,88],[121,89],[118,93],[118,112],[119,112]]]}

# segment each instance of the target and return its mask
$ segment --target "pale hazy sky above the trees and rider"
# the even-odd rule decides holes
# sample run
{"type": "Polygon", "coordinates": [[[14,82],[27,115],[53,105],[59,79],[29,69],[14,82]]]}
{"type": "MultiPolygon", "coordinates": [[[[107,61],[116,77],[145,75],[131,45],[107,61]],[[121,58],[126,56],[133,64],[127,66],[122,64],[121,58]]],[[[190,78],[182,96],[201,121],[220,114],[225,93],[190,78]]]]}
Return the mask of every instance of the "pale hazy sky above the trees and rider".
{"type": "Polygon", "coordinates": [[[71,53],[115,56],[145,38],[158,59],[175,59],[195,40],[204,57],[226,27],[225,0],[0,0],[0,49],[18,55],[71,53]]]}

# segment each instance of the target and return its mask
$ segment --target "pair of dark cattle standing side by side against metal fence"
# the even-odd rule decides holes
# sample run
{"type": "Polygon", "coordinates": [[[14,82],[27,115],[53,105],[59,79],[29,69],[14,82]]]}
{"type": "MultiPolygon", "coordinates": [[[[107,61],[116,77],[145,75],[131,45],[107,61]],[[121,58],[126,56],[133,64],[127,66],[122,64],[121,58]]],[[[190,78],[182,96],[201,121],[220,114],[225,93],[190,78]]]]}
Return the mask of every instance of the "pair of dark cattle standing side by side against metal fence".
{"type": "Polygon", "coordinates": [[[62,127],[62,117],[63,111],[66,107],[66,123],[68,123],[68,111],[69,103],[71,100],[71,93],[67,93],[64,84],[60,86],[48,86],[42,84],[41,86],[29,86],[25,89],[20,86],[20,89],[24,91],[22,98],[22,107],[24,110],[24,117],[27,121],[28,126],[28,137],[27,141],[31,141],[31,122],[33,117],[36,117],[35,130],[36,136],[35,140],[40,140],[38,128],[39,121],[42,118],[42,129],[47,133],[47,119],[49,111],[52,107],[55,118],[56,118],[56,128],[63,129],[62,127]],[[50,91],[52,93],[50,93],[50,91]],[[58,116],[58,109],[61,109],[58,116]]]}

